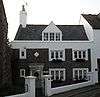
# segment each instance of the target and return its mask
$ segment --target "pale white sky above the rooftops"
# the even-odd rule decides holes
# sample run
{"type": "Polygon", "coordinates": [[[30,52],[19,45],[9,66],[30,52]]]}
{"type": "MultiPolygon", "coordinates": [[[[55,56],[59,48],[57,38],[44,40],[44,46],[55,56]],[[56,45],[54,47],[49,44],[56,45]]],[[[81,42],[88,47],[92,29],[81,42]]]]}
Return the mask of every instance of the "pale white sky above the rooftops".
{"type": "Polygon", "coordinates": [[[81,14],[98,14],[100,0],[3,0],[8,21],[8,38],[13,41],[18,27],[19,13],[26,5],[27,24],[78,25],[81,14]]]}

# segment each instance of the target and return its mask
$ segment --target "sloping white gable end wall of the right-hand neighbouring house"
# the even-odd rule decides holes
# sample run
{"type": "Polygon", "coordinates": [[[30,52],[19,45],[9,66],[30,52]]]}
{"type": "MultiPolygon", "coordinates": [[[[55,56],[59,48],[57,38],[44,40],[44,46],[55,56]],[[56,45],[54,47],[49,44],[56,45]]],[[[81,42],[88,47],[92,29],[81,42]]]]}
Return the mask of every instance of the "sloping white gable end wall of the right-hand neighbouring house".
{"type": "Polygon", "coordinates": [[[82,15],[81,15],[81,18],[80,18],[80,24],[84,25],[84,28],[85,28],[85,31],[86,31],[86,34],[87,34],[89,40],[93,41],[93,39],[94,39],[93,29],[90,26],[90,24],[86,21],[86,19],[83,18],[82,15]]]}

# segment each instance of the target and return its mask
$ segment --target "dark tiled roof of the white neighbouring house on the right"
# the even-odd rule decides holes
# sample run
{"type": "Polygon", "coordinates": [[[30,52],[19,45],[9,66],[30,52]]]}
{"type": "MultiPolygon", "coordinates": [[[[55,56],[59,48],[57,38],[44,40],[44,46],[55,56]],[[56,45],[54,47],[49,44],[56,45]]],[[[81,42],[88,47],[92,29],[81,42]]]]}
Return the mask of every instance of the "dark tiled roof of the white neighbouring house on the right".
{"type": "Polygon", "coordinates": [[[93,29],[100,29],[100,17],[98,15],[82,14],[93,29]]]}

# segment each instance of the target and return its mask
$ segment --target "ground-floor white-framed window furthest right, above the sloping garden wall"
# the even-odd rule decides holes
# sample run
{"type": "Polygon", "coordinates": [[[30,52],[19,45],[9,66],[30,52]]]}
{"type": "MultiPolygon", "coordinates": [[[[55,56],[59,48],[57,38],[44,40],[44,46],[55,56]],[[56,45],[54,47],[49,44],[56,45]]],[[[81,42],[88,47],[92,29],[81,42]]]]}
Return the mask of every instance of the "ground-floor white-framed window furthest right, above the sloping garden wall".
{"type": "Polygon", "coordinates": [[[73,68],[73,80],[87,80],[88,68],[73,68]]]}

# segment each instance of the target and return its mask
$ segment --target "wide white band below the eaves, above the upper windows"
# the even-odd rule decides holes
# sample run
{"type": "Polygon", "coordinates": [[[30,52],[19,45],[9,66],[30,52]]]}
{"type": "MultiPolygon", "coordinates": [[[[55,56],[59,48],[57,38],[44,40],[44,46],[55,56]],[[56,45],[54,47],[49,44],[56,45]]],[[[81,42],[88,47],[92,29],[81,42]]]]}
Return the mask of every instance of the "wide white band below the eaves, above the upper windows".
{"type": "Polygon", "coordinates": [[[13,41],[12,48],[49,48],[50,50],[62,50],[65,48],[72,49],[89,49],[91,42],[89,41],[62,41],[62,42],[42,42],[42,41],[13,41]]]}

